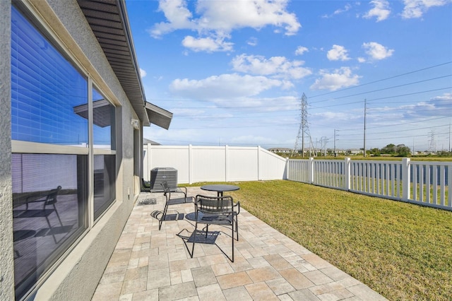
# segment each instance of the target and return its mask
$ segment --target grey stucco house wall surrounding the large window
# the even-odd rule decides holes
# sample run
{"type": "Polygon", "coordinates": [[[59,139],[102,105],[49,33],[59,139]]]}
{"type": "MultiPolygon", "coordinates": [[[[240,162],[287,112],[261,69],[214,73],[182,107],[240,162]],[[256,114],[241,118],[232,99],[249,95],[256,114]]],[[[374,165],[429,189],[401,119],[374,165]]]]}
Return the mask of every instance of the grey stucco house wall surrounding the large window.
{"type": "MultiPolygon", "coordinates": [[[[136,143],[134,136],[139,131],[138,136],[142,137],[142,128],[133,129],[131,119],[140,118],[76,0],[24,0],[23,3],[39,16],[44,28],[59,38],[64,50],[117,106],[116,201],[28,296],[35,297],[35,300],[90,300],[139,193],[139,186],[136,185],[139,175],[135,175],[134,169],[134,145],[142,148],[142,143],[136,143]]],[[[0,1],[0,40],[0,300],[13,300],[9,0],[0,1]]],[[[142,141],[142,138],[138,140],[142,141]]]]}

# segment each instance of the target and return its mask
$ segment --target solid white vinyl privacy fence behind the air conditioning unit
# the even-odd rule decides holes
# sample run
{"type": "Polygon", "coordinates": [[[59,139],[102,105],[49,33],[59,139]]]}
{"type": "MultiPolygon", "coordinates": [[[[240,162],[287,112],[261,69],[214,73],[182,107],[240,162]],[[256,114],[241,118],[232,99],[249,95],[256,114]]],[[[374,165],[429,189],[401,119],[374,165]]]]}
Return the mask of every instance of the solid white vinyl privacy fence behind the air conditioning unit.
{"type": "Polygon", "coordinates": [[[287,160],[261,147],[143,146],[143,178],[173,167],[179,184],[285,179],[287,160]]]}

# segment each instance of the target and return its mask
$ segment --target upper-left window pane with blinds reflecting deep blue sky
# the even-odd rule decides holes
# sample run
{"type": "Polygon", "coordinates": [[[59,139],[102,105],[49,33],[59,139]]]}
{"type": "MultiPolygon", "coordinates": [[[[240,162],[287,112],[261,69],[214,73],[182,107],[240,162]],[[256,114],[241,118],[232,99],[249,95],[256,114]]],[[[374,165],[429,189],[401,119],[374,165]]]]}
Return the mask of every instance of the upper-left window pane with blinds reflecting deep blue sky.
{"type": "Polygon", "coordinates": [[[13,8],[12,139],[84,146],[88,120],[74,114],[73,107],[87,103],[87,80],[13,8]]]}

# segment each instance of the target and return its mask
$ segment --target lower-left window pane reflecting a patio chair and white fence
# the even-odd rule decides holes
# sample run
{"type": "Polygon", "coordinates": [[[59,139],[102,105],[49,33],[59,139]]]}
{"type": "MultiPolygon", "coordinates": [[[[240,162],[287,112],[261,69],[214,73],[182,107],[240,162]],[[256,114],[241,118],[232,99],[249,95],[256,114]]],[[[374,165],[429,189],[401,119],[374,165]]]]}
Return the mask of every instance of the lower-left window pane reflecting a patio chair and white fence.
{"type": "Polygon", "coordinates": [[[87,228],[88,155],[12,154],[16,298],[87,228]]]}

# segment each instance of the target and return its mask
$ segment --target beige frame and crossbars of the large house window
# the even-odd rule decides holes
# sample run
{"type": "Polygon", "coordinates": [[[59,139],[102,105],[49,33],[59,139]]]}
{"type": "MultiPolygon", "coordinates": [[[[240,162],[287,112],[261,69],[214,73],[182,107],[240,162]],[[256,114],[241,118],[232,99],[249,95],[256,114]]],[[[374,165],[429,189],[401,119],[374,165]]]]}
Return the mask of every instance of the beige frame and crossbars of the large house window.
{"type": "MultiPolygon", "coordinates": [[[[39,143],[39,142],[31,142],[31,141],[20,141],[20,140],[11,140],[11,153],[35,153],[35,154],[61,154],[61,155],[87,155],[88,156],[88,200],[87,200],[87,208],[85,211],[88,211],[86,214],[88,215],[88,223],[86,225],[85,230],[78,233],[78,236],[75,239],[71,240],[69,243],[69,247],[62,252],[61,254],[52,254],[48,259],[52,259],[52,264],[49,264],[47,269],[43,273],[40,274],[34,281],[35,283],[30,286],[28,290],[23,293],[23,297],[28,296],[32,291],[38,288],[44,281],[47,280],[49,275],[53,273],[57,267],[61,264],[64,259],[72,252],[74,248],[83,240],[83,238],[92,230],[97,222],[102,219],[102,216],[109,211],[115,203],[118,202],[118,192],[121,191],[119,189],[118,182],[118,174],[119,174],[119,165],[120,161],[117,157],[117,149],[121,147],[118,145],[118,141],[120,141],[120,127],[118,121],[121,120],[121,110],[119,105],[119,101],[114,98],[114,94],[107,83],[102,81],[102,77],[99,74],[95,74],[96,78],[100,78],[100,82],[95,82],[95,79],[92,76],[92,73],[88,71],[85,67],[82,66],[80,61],[76,59],[76,57],[71,53],[70,49],[66,47],[63,41],[59,39],[59,36],[52,30],[51,26],[42,18],[40,13],[36,11],[36,9],[29,4],[28,2],[23,1],[13,1],[12,7],[16,8],[18,13],[20,13],[25,19],[35,27],[35,29],[42,35],[42,37],[49,42],[56,50],[59,52],[61,57],[64,57],[69,63],[73,66],[74,69],[78,73],[85,78],[88,85],[88,146],[65,146],[59,144],[52,143],[39,143]],[[97,90],[102,96],[104,96],[105,100],[109,102],[110,105],[114,106],[114,125],[112,125],[112,131],[114,131],[114,135],[112,135],[112,149],[105,148],[94,148],[93,147],[93,88],[97,90]],[[107,90],[103,90],[100,87],[104,87],[107,90]],[[113,95],[113,96],[106,96],[113,95]],[[113,141],[114,138],[114,141],[113,141]],[[102,213],[95,219],[94,213],[94,155],[114,155],[114,199],[109,206],[105,208],[102,213]],[[54,258],[56,257],[56,259],[54,258]]],[[[11,121],[12,122],[12,121],[11,121]]],[[[47,259],[46,259],[47,260],[47,259]]]]}

